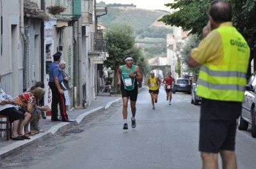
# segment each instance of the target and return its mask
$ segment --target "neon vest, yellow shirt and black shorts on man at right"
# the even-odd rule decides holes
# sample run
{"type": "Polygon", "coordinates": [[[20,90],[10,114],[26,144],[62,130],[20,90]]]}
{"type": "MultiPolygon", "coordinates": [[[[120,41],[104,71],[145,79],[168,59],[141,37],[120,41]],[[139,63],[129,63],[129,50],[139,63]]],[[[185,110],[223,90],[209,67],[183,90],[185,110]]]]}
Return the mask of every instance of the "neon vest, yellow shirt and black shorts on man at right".
{"type": "Polygon", "coordinates": [[[203,98],[199,151],[234,151],[250,48],[232,22],[224,22],[192,50],[191,57],[201,64],[196,90],[203,98]]]}

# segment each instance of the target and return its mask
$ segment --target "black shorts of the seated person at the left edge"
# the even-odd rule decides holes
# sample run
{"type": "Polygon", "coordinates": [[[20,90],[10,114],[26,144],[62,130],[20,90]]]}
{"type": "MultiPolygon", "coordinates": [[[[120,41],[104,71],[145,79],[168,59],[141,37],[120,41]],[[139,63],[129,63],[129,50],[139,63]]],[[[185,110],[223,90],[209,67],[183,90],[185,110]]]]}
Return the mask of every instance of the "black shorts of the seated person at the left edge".
{"type": "Polygon", "coordinates": [[[8,115],[11,122],[17,121],[19,119],[25,119],[25,116],[24,116],[23,112],[20,112],[15,107],[5,108],[4,110],[0,111],[0,114],[1,115],[8,115]]]}

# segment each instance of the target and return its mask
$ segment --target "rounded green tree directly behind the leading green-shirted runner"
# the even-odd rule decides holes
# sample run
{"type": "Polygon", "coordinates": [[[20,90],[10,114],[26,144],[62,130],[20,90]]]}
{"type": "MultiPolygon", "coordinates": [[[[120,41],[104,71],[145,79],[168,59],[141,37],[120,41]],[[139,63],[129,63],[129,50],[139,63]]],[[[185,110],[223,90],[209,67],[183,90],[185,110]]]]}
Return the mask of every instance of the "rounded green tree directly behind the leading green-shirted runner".
{"type": "MultiPolygon", "coordinates": [[[[135,37],[133,30],[130,26],[115,24],[113,27],[107,29],[106,38],[108,39],[108,53],[109,57],[104,64],[107,68],[112,70],[118,70],[118,67],[125,64],[124,58],[126,55],[132,55],[134,64],[140,66],[141,71],[149,70],[148,63],[144,59],[141,48],[136,47],[135,37]]],[[[116,85],[116,79],[114,81],[116,85]]]]}

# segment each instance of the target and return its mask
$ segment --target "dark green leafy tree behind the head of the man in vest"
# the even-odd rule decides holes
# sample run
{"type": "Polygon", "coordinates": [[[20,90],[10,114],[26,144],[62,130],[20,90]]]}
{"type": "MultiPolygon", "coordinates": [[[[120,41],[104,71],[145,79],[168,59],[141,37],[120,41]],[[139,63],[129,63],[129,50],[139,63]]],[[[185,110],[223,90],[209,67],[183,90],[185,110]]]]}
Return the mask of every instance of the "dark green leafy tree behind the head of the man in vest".
{"type": "MultiPolygon", "coordinates": [[[[167,25],[180,26],[190,34],[202,33],[202,28],[208,20],[207,10],[212,0],[175,0],[165,4],[177,10],[165,15],[159,21],[167,25]]],[[[256,0],[228,0],[233,10],[232,22],[237,30],[243,34],[251,48],[251,59],[256,57],[256,0]]],[[[256,58],[254,59],[256,65],[256,58]]],[[[249,66],[250,67],[250,66],[249,66]]],[[[256,68],[256,66],[254,66],[256,68]]],[[[249,72],[248,72],[249,73],[249,72]]],[[[250,73],[249,73],[250,74],[250,73]]]]}

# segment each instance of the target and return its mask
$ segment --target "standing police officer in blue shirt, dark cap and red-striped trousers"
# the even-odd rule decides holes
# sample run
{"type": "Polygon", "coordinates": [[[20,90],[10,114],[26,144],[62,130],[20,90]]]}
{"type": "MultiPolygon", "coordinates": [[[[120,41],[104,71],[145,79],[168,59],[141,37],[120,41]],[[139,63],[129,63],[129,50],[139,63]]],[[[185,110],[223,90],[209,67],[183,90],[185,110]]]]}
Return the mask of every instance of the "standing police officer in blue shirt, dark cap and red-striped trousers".
{"type": "Polygon", "coordinates": [[[63,89],[64,87],[61,85],[63,81],[63,77],[61,75],[61,70],[59,63],[61,61],[61,52],[57,52],[53,56],[53,62],[49,66],[49,87],[52,91],[52,118],[51,121],[59,121],[58,120],[58,104],[60,105],[60,114],[63,122],[72,122],[68,120],[68,115],[65,107],[65,97],[63,89]]]}

